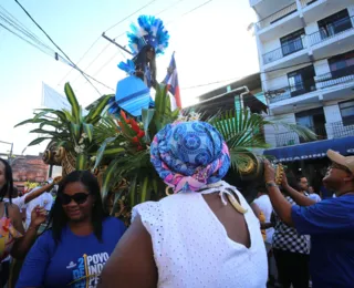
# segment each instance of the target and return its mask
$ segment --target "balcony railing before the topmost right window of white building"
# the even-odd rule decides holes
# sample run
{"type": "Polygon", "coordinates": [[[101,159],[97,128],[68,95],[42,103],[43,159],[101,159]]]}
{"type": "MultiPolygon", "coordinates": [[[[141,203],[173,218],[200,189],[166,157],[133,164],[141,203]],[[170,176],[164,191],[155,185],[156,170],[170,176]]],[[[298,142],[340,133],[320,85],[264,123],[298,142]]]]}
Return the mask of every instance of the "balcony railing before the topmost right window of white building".
{"type": "Polygon", "coordinates": [[[326,29],[321,28],[319,31],[310,34],[309,43],[311,47],[313,47],[352,29],[354,29],[354,17],[346,17],[333,22],[332,24],[329,24],[326,29]]]}

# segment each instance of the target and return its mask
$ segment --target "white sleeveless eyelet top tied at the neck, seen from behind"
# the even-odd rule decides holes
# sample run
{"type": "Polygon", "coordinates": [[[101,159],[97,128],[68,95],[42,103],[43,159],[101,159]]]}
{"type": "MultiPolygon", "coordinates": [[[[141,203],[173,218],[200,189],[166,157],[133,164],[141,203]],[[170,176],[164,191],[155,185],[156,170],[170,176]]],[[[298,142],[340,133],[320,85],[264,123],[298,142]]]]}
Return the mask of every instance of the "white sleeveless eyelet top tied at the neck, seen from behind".
{"type": "Polygon", "coordinates": [[[268,263],[259,220],[237,192],[251,247],[231,240],[199,193],[179,193],[133,209],[150,234],[158,288],[263,288],[268,263]]]}

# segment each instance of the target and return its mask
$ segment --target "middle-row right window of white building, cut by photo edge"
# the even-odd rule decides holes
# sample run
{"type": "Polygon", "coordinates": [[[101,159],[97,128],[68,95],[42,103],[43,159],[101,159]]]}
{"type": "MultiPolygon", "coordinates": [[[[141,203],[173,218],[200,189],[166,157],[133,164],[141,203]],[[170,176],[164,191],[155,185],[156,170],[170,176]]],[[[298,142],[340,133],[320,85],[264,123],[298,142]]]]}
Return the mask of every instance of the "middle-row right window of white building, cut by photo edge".
{"type": "Polygon", "coordinates": [[[329,59],[332,78],[354,74],[354,50],[329,59]]]}

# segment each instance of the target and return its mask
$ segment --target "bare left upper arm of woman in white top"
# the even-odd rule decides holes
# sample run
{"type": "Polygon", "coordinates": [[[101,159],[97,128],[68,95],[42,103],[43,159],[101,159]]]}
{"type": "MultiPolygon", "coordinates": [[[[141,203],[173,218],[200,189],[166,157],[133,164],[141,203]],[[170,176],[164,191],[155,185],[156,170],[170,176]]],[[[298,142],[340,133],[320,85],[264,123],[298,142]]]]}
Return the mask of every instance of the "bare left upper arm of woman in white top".
{"type": "Polygon", "coordinates": [[[98,288],[156,288],[157,268],[152,237],[140,217],[121,238],[105,264],[98,288]]]}

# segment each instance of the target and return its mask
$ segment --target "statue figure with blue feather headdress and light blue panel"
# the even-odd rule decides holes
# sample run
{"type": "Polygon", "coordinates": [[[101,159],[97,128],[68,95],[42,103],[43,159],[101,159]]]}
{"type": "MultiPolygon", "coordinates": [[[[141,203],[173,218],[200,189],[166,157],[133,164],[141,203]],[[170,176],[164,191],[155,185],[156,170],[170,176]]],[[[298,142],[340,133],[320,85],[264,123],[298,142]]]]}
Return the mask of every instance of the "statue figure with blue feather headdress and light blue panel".
{"type": "Polygon", "coordinates": [[[142,115],[142,109],[153,105],[149,90],[157,84],[156,55],[163,54],[168,47],[169,34],[160,19],[140,16],[137,24],[131,25],[127,33],[134,58],[118,68],[128,76],[117,83],[115,100],[111,100],[111,113],[125,110],[133,116],[142,115]]]}

